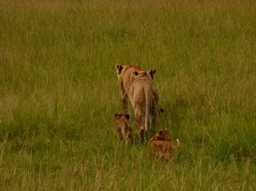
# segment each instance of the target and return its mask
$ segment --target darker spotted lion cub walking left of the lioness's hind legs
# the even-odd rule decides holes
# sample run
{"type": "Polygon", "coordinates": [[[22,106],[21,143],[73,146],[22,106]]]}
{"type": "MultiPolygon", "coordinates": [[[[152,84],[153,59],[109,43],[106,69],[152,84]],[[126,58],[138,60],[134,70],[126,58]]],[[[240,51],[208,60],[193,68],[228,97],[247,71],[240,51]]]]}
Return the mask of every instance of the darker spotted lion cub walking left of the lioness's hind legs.
{"type": "Polygon", "coordinates": [[[119,140],[124,140],[126,144],[132,143],[132,131],[129,127],[129,114],[114,114],[114,117],[115,135],[119,140]]]}

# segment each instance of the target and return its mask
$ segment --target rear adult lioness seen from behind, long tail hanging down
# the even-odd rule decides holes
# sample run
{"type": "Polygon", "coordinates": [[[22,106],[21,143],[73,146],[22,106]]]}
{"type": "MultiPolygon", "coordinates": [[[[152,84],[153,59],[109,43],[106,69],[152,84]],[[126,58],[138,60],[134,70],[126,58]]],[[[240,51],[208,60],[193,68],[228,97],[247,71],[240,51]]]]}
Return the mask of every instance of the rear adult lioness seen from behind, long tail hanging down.
{"type": "Polygon", "coordinates": [[[129,88],[129,98],[135,111],[135,123],[143,139],[152,119],[158,121],[158,89],[148,71],[132,72],[135,80],[129,88]]]}

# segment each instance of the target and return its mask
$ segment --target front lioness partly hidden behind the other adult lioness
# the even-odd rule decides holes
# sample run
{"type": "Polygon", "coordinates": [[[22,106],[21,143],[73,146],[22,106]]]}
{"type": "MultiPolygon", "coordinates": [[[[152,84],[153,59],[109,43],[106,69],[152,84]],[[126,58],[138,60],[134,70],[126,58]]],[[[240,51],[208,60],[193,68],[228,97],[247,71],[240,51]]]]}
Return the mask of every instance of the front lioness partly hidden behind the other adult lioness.
{"type": "MultiPolygon", "coordinates": [[[[121,94],[121,104],[125,114],[128,113],[128,92],[129,88],[135,80],[134,74],[132,72],[146,71],[146,69],[138,67],[136,64],[124,65],[117,63],[115,64],[116,73],[118,74],[119,91],[121,94]]],[[[153,78],[156,69],[152,69],[149,74],[153,78]]]]}

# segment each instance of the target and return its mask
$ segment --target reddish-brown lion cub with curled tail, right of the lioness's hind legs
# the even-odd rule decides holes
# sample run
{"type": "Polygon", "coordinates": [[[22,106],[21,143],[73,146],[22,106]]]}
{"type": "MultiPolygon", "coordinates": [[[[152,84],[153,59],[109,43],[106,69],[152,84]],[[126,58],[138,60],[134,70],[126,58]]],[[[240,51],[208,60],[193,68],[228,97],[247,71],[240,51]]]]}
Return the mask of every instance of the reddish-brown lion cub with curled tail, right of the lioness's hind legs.
{"type": "Polygon", "coordinates": [[[178,139],[176,139],[176,142],[177,146],[173,145],[169,133],[166,130],[160,130],[150,139],[149,154],[152,155],[152,153],[155,153],[158,157],[172,160],[172,150],[177,149],[180,145],[178,139]]]}

